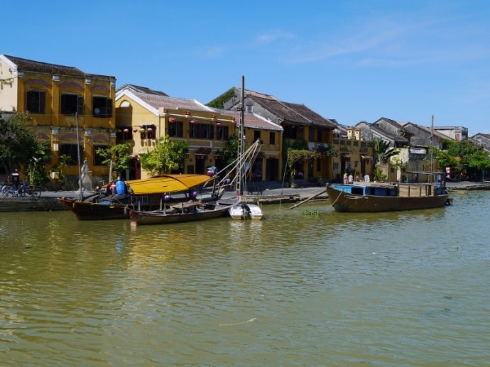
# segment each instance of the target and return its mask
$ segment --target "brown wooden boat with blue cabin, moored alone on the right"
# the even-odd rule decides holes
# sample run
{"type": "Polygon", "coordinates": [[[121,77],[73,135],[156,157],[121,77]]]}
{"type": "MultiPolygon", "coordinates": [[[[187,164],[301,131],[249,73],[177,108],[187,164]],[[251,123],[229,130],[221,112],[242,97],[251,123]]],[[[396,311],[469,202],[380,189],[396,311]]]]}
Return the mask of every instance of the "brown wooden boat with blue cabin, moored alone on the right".
{"type": "Polygon", "coordinates": [[[435,172],[434,175],[434,182],[331,184],[327,185],[327,194],[337,212],[394,212],[444,207],[451,202],[443,174],[435,172]]]}

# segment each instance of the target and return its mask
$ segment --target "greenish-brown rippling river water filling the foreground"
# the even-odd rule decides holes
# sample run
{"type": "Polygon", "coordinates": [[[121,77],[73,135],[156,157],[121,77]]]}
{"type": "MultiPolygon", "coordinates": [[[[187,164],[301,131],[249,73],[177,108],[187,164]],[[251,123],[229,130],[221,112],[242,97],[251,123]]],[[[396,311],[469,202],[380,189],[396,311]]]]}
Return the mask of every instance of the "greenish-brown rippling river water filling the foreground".
{"type": "Polygon", "coordinates": [[[1,366],[489,366],[490,192],[131,227],[0,213],[1,366]]]}

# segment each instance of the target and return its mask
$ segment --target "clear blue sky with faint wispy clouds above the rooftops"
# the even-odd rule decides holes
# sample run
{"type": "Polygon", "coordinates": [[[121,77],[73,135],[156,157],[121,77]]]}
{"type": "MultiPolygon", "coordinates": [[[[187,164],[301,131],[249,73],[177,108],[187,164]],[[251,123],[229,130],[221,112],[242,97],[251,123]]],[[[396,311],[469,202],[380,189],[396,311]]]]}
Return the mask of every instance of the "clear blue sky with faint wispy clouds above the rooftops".
{"type": "Polygon", "coordinates": [[[13,1],[0,53],[206,104],[230,87],[340,124],[490,133],[490,1],[13,1]]]}

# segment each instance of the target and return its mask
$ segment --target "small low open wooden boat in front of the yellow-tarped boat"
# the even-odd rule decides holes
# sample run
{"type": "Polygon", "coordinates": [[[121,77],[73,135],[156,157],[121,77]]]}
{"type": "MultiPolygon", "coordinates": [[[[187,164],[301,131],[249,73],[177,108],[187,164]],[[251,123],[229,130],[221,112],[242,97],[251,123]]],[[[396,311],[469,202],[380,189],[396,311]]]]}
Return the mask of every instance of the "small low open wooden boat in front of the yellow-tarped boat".
{"type": "Polygon", "coordinates": [[[229,205],[217,202],[185,202],[161,210],[141,211],[129,210],[131,225],[170,224],[184,221],[202,221],[223,217],[228,214],[229,205]]]}

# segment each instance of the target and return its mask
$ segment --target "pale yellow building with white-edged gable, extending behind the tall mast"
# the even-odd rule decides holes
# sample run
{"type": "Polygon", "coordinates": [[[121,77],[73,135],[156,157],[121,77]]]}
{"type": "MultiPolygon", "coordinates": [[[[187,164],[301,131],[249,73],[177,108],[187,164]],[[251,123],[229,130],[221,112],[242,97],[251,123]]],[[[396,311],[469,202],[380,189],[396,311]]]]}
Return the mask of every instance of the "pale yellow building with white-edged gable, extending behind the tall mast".
{"type": "MultiPolygon", "coordinates": [[[[212,109],[195,99],[168,97],[163,92],[126,84],[116,92],[117,142],[130,143],[134,165],[128,179],[148,177],[141,170],[139,157],[151,150],[158,138],[185,141],[189,153],[184,157],[183,173],[206,173],[209,166],[219,170],[226,163],[219,155],[229,138],[238,135],[239,114],[212,109]]],[[[263,150],[254,163],[254,179],[266,180],[271,162],[281,155],[282,128],[260,116],[245,119],[246,144],[263,140],[263,150]]],[[[278,171],[277,171],[278,172],[278,171]]],[[[276,178],[275,178],[276,179],[276,178]]]]}

